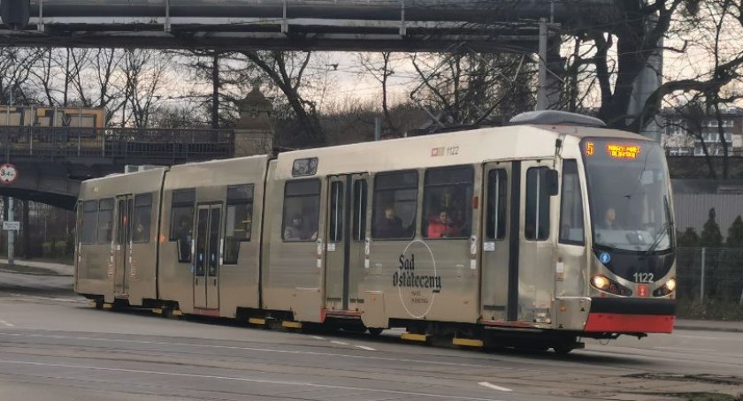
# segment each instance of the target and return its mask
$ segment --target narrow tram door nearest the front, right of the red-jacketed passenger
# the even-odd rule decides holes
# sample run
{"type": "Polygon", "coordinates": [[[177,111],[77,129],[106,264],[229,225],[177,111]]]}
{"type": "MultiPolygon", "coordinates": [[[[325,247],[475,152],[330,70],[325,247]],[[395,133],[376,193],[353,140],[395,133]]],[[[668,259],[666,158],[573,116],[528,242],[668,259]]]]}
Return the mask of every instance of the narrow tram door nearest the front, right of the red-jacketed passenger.
{"type": "Polygon", "coordinates": [[[483,171],[480,314],[485,320],[509,320],[513,233],[518,239],[518,225],[511,226],[511,212],[517,207],[519,195],[518,189],[514,191],[511,183],[513,177],[518,175],[519,167],[519,162],[486,163],[483,171]]]}

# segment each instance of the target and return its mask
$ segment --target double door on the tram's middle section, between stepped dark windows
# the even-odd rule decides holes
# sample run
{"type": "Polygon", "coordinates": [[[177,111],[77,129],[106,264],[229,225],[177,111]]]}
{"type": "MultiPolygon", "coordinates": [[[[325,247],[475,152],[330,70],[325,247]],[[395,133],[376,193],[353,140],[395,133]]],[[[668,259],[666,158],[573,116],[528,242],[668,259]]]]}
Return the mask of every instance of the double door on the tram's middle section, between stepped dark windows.
{"type": "Polygon", "coordinates": [[[219,308],[221,205],[199,205],[196,214],[194,307],[219,308]]]}

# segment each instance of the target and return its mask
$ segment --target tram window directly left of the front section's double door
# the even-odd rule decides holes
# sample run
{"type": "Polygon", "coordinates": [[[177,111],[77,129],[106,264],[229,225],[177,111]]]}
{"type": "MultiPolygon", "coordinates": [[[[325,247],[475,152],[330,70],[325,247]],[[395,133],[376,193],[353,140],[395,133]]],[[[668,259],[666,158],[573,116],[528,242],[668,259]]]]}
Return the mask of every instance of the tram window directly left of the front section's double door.
{"type": "Polygon", "coordinates": [[[320,181],[298,179],[284,187],[284,216],[281,238],[284,241],[314,241],[318,238],[320,181]]]}

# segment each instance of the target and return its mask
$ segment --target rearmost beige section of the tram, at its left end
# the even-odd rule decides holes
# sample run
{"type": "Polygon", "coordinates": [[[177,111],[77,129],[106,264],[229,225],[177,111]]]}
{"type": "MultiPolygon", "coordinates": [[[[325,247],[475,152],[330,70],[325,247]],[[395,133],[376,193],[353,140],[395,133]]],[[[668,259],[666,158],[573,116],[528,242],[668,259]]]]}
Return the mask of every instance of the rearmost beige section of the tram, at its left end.
{"type": "Polygon", "coordinates": [[[157,210],[165,168],[85,181],[76,271],[80,294],[140,306],[157,298],[157,210]]]}

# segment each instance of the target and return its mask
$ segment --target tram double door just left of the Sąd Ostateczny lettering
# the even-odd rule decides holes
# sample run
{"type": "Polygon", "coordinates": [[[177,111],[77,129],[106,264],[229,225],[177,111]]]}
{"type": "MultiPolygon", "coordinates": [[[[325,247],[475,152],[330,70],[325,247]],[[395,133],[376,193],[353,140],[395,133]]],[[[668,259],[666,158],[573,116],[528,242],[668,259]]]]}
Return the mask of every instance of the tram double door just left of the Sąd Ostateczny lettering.
{"type": "Polygon", "coordinates": [[[328,178],[326,309],[356,310],[364,269],[367,174],[328,178]]]}

